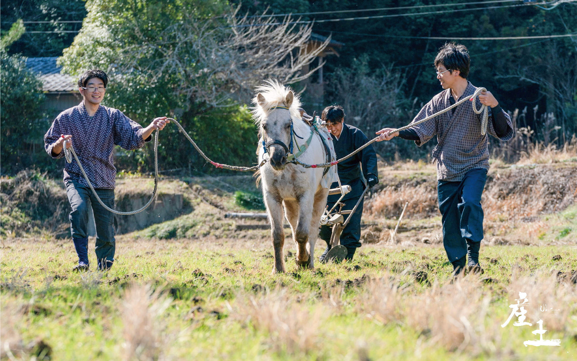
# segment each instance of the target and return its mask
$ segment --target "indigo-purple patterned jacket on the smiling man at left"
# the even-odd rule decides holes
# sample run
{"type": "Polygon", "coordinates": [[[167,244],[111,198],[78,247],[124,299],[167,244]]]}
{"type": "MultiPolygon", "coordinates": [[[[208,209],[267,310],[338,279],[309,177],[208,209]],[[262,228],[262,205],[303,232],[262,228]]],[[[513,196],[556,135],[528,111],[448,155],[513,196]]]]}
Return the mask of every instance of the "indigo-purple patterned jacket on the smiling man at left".
{"type": "MultiPolygon", "coordinates": [[[[78,159],[95,188],[114,189],[116,167],[114,167],[113,149],[115,145],[133,151],[141,148],[143,127],[114,108],[99,106],[94,116],[88,116],[84,102],[61,112],[44,135],[44,148],[53,158],[62,158],[52,153],[55,142],[62,134],[72,136],[72,146],[78,159]]],[[[76,181],[88,187],[76,160],[64,163],[64,181],[76,181]]]]}

